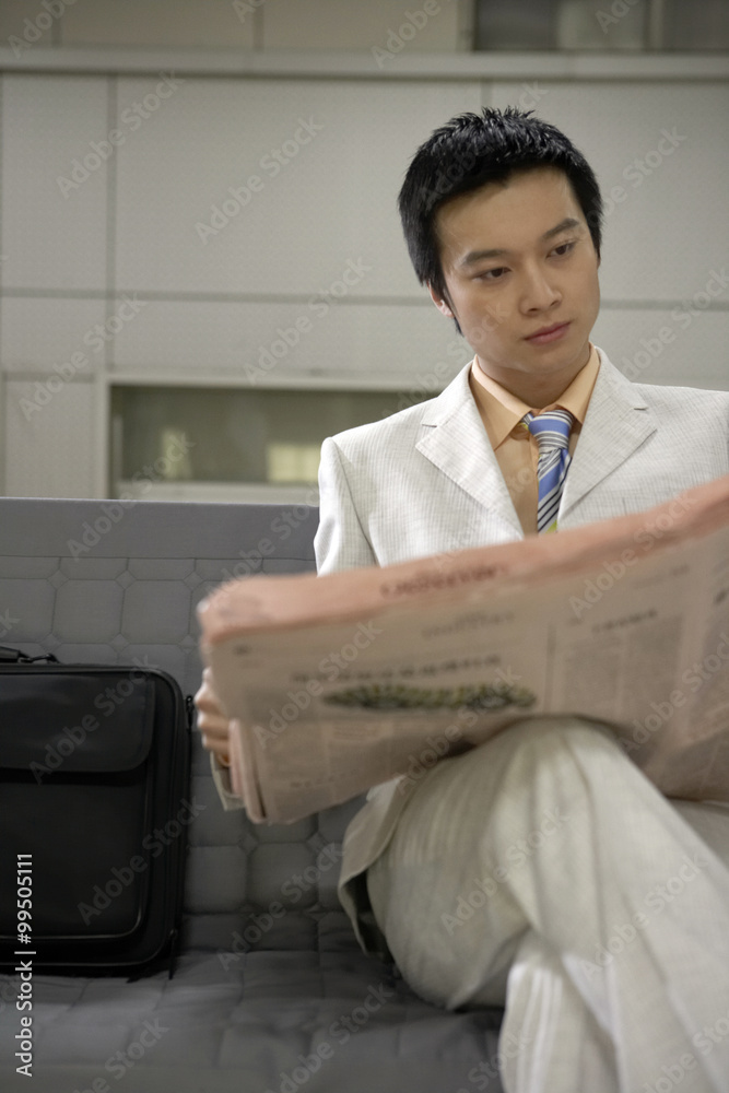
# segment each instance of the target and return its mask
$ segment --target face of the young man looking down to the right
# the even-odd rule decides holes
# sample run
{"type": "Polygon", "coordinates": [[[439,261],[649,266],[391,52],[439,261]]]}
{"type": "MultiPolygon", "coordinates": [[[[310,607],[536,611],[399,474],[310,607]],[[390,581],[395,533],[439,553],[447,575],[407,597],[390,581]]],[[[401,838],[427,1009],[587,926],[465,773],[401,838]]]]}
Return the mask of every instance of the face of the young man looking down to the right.
{"type": "Polygon", "coordinates": [[[436,306],[458,319],[487,376],[528,404],[554,401],[587,364],[600,305],[598,257],[567,176],[539,167],[489,183],[444,204],[435,226],[448,290],[443,301],[431,289],[436,306]]]}

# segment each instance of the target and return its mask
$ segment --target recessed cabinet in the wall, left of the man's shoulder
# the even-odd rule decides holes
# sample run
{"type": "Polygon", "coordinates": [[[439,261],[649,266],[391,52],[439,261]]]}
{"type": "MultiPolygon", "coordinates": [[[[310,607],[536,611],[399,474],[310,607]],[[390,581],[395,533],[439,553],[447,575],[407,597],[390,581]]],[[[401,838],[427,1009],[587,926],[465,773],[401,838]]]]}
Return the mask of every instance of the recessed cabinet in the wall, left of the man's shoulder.
{"type": "Polygon", "coordinates": [[[316,503],[321,442],[424,392],[117,385],[115,496],[316,503]]]}

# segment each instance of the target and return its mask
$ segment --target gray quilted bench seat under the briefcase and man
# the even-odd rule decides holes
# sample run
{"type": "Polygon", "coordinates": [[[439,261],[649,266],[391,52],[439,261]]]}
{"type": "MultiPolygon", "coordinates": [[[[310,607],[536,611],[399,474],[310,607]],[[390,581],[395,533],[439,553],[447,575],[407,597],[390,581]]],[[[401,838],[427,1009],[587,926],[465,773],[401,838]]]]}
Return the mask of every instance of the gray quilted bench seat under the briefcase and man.
{"type": "Polygon", "coordinates": [[[187,953],[172,980],[131,984],[36,976],[30,1081],[12,1072],[9,982],[0,994],[3,1093],[501,1093],[497,1013],[435,1010],[358,952],[187,953]]]}

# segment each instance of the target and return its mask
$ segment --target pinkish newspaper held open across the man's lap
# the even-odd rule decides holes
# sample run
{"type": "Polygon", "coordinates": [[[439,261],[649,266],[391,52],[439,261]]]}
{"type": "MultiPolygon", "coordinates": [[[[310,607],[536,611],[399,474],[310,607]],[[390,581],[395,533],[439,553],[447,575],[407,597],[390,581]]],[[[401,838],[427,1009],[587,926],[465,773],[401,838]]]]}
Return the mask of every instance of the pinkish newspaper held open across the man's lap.
{"type": "Polygon", "coordinates": [[[251,820],[292,822],[536,715],[610,726],[669,797],[729,801],[729,475],[648,512],[200,604],[251,820]]]}

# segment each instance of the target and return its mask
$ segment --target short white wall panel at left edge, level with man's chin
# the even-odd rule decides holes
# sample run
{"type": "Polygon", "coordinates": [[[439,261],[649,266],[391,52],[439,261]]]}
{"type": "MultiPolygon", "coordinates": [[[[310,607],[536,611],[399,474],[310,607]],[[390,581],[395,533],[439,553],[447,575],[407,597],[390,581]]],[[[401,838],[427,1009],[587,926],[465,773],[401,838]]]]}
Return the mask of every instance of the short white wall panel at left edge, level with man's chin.
{"type": "Polygon", "coordinates": [[[105,324],[103,299],[5,296],[0,301],[0,363],[7,372],[50,371],[75,364],[91,374],[103,363],[96,328],[105,324]],[[81,363],[81,354],[86,364],[81,363]]]}

